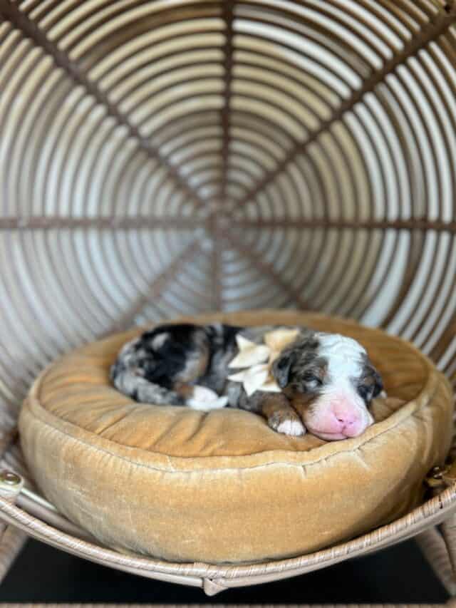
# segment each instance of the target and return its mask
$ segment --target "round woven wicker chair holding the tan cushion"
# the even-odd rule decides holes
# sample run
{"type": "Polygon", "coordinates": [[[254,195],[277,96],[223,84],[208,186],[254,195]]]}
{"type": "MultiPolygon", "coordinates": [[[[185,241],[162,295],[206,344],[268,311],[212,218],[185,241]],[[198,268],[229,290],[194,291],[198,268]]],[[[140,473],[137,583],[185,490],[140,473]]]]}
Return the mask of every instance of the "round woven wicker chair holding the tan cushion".
{"type": "Polygon", "coordinates": [[[422,506],[350,542],[182,565],[61,517],[16,437],[58,354],[210,309],[361,319],[456,385],[455,3],[0,0],[0,19],[0,576],[26,534],[208,594],[417,535],[456,595],[451,467],[422,506]]]}

